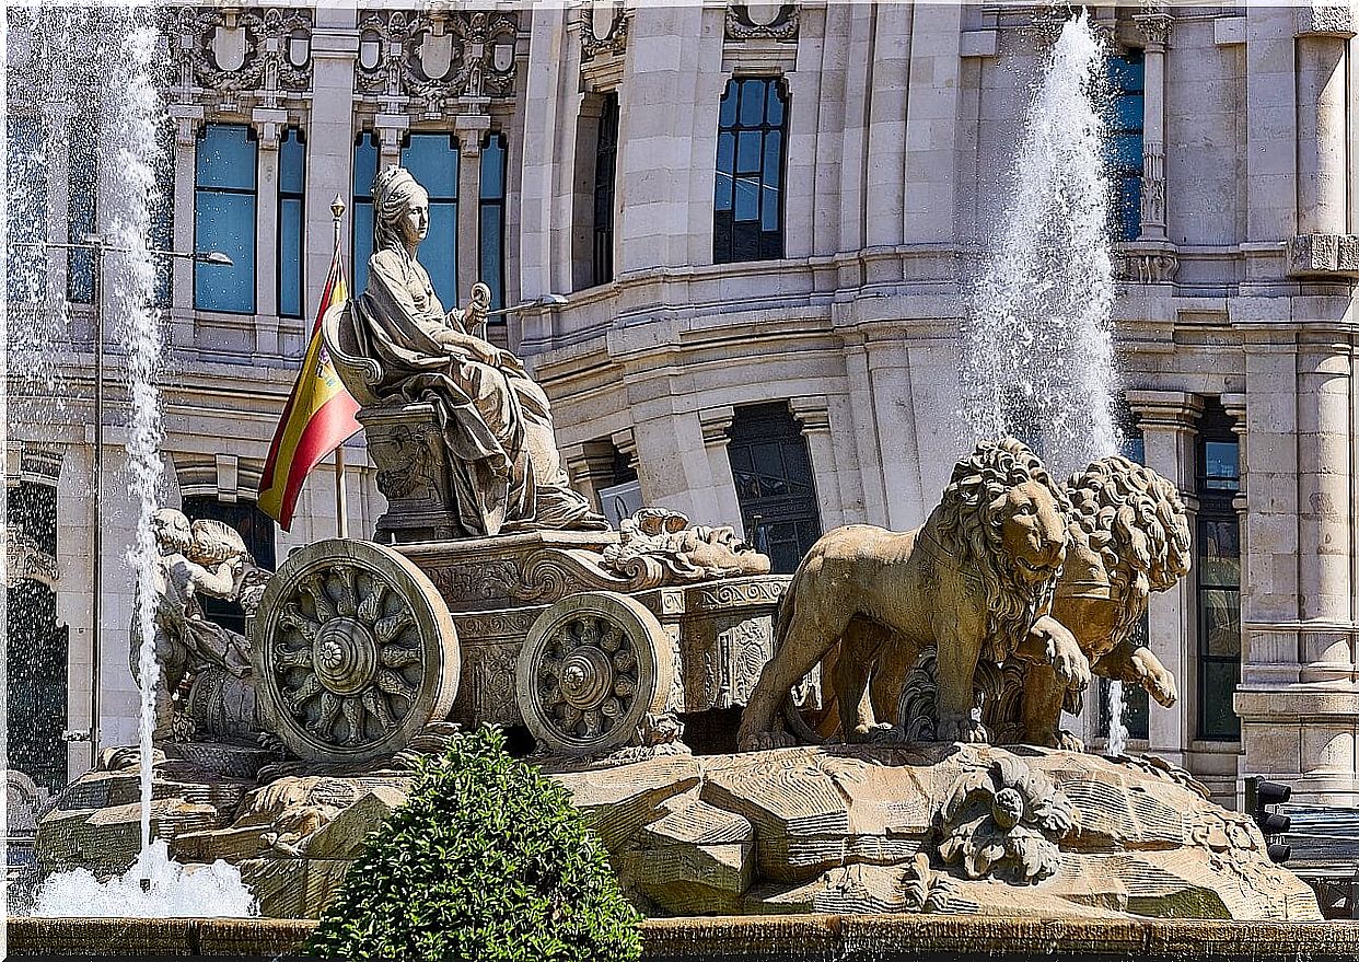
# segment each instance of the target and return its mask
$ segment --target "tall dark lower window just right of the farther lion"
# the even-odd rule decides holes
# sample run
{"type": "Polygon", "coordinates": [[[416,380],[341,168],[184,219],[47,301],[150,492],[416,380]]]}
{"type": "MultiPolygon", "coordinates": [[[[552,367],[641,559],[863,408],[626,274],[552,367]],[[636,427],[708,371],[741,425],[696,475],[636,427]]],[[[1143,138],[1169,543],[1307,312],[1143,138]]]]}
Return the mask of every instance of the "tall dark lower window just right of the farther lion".
{"type": "Polygon", "coordinates": [[[1231,696],[1241,679],[1241,531],[1231,500],[1241,489],[1231,417],[1216,401],[1199,425],[1199,738],[1234,742],[1231,696]]]}

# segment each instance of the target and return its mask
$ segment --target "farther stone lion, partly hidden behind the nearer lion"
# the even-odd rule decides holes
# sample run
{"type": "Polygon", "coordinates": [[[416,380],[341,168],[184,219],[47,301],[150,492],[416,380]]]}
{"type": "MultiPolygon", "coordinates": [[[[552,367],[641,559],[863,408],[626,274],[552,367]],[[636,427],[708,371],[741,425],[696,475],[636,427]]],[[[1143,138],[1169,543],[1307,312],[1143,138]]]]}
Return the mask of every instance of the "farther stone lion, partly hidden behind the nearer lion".
{"type": "MultiPolygon", "coordinates": [[[[1070,628],[1091,671],[1137,685],[1169,708],[1178,692],[1161,660],[1132,639],[1154,591],[1169,591],[1189,571],[1189,523],[1176,486],[1121,455],[1093,462],[1067,482],[1071,497],[1067,564],[1052,617],[1070,628]]],[[[1044,664],[1026,666],[1025,742],[1079,750],[1059,728],[1063,707],[1078,712],[1079,693],[1044,664]]]]}

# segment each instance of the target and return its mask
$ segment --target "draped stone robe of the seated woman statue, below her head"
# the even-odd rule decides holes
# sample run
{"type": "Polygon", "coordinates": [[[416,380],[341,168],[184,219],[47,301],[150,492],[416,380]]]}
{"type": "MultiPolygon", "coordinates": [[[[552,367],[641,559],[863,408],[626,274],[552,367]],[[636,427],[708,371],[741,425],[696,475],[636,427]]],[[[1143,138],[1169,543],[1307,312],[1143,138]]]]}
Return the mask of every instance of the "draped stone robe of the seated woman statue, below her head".
{"type": "Polygon", "coordinates": [[[440,344],[443,332],[467,332],[457,314],[444,315],[413,257],[398,249],[374,254],[353,315],[361,353],[382,366],[372,391],[434,405],[465,535],[602,526],[568,486],[542,389],[518,366],[485,364],[440,344]]]}

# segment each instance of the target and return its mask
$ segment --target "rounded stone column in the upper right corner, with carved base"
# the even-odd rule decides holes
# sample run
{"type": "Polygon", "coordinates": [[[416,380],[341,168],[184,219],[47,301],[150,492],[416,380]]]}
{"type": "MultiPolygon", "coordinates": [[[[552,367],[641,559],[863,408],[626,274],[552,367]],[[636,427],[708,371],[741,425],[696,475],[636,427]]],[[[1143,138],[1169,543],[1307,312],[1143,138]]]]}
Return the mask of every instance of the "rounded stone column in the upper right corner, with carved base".
{"type": "Polygon", "coordinates": [[[1347,52],[1355,35],[1349,4],[1296,11],[1298,235],[1292,274],[1359,272],[1359,238],[1348,234],[1347,52]]]}

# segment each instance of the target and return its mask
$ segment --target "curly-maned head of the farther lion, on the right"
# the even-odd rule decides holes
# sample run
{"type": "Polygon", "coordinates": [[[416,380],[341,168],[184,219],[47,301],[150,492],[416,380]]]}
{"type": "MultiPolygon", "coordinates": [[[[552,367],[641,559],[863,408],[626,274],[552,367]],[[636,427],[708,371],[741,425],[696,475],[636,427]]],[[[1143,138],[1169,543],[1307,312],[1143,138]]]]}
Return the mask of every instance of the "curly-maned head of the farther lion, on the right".
{"type": "MultiPolygon", "coordinates": [[[[1071,534],[1098,561],[1108,598],[1118,605],[1117,637],[1127,637],[1152,591],[1189,572],[1189,522],[1176,486],[1150,467],[1110,455],[1067,482],[1071,534]]],[[[1099,587],[1102,586],[1087,586],[1099,587]]]]}

